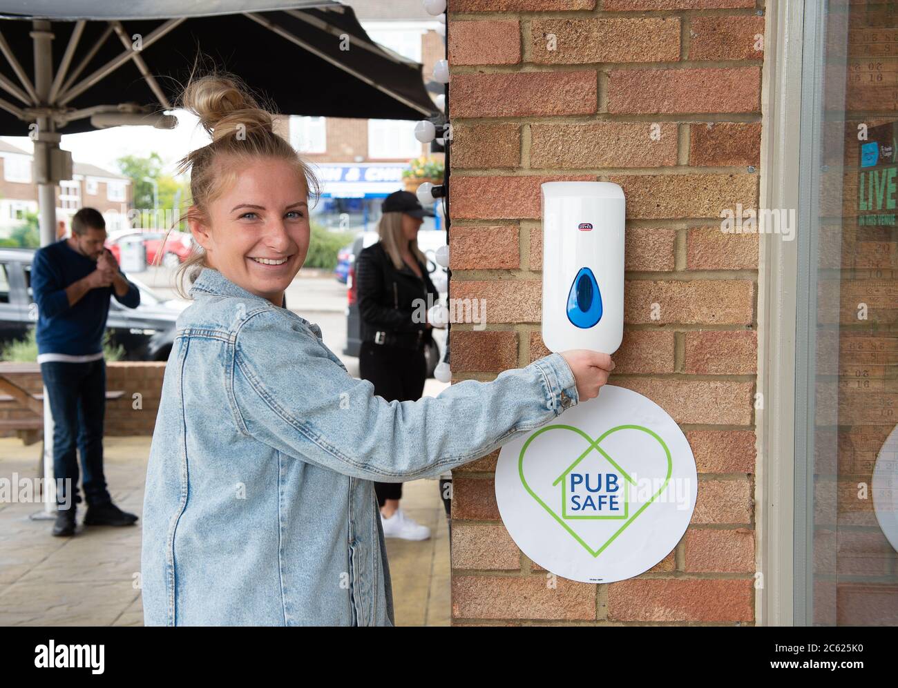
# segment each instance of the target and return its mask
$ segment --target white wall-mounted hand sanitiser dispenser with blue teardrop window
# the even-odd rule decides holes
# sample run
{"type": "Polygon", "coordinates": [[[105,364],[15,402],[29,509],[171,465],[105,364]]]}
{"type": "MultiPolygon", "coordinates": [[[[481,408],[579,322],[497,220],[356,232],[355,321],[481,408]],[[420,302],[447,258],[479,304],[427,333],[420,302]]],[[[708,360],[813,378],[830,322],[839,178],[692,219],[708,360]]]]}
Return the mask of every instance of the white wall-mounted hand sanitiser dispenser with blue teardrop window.
{"type": "Polygon", "coordinates": [[[614,353],[623,339],[623,189],[542,187],[542,341],[550,352],[614,353]]]}

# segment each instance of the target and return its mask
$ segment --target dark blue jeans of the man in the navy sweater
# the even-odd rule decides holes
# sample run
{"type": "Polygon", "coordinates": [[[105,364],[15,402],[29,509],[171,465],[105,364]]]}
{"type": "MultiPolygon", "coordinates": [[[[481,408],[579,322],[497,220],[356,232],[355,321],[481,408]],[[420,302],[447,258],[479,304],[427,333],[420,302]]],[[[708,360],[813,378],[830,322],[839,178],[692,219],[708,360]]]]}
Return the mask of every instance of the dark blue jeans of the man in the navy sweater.
{"type": "MultiPolygon", "coordinates": [[[[84,471],[82,484],[87,505],[109,503],[103,475],[103,415],[106,410],[106,361],[86,363],[48,361],[40,364],[40,374],[53,413],[53,473],[70,479],[72,501],[82,501],[78,493],[78,461],[75,447],[81,453],[84,471]]],[[[57,484],[60,484],[57,482],[57,484]]],[[[57,504],[66,501],[62,488],[57,504]]]]}

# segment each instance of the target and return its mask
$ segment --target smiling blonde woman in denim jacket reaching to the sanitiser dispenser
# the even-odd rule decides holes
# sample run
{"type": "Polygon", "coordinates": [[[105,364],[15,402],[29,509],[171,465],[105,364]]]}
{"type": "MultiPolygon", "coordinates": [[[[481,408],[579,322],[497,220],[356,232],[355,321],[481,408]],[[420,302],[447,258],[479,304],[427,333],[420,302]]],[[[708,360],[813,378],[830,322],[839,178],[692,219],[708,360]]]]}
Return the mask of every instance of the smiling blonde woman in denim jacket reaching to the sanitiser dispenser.
{"type": "Polygon", "coordinates": [[[393,625],[374,481],[436,476],[598,394],[601,353],[387,402],[282,308],[309,248],[313,175],[233,78],[182,107],[211,144],[191,171],[178,320],[146,474],[146,625],[393,625]]]}

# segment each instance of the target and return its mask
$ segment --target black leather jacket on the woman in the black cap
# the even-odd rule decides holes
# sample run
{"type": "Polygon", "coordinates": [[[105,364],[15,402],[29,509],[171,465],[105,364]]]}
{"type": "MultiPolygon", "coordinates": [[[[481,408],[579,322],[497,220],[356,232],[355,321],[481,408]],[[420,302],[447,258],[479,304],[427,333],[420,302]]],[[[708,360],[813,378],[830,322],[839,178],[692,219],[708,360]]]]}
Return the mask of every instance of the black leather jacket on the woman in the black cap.
{"type": "Polygon", "coordinates": [[[397,270],[380,241],[359,252],[356,257],[356,297],[363,342],[374,340],[378,330],[406,333],[402,335],[406,338],[422,330],[422,342],[433,339],[431,328],[424,320],[412,320],[418,303],[426,304],[420,311],[424,316],[439,299],[439,292],[427,273],[427,265],[418,261],[418,266],[423,280],[409,266],[403,265],[397,270]],[[429,300],[428,293],[431,295],[429,300]]]}

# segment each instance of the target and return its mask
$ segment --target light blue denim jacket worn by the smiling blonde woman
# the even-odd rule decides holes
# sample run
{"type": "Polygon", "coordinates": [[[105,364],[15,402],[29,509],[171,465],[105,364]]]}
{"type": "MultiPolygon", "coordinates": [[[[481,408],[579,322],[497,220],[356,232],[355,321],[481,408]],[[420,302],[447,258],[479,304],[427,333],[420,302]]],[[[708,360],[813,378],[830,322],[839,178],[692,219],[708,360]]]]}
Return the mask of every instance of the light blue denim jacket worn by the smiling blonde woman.
{"type": "Polygon", "coordinates": [[[433,477],[577,404],[559,353],[387,402],[321,329],[206,268],[146,472],[146,625],[392,625],[373,481],[433,477]]]}

